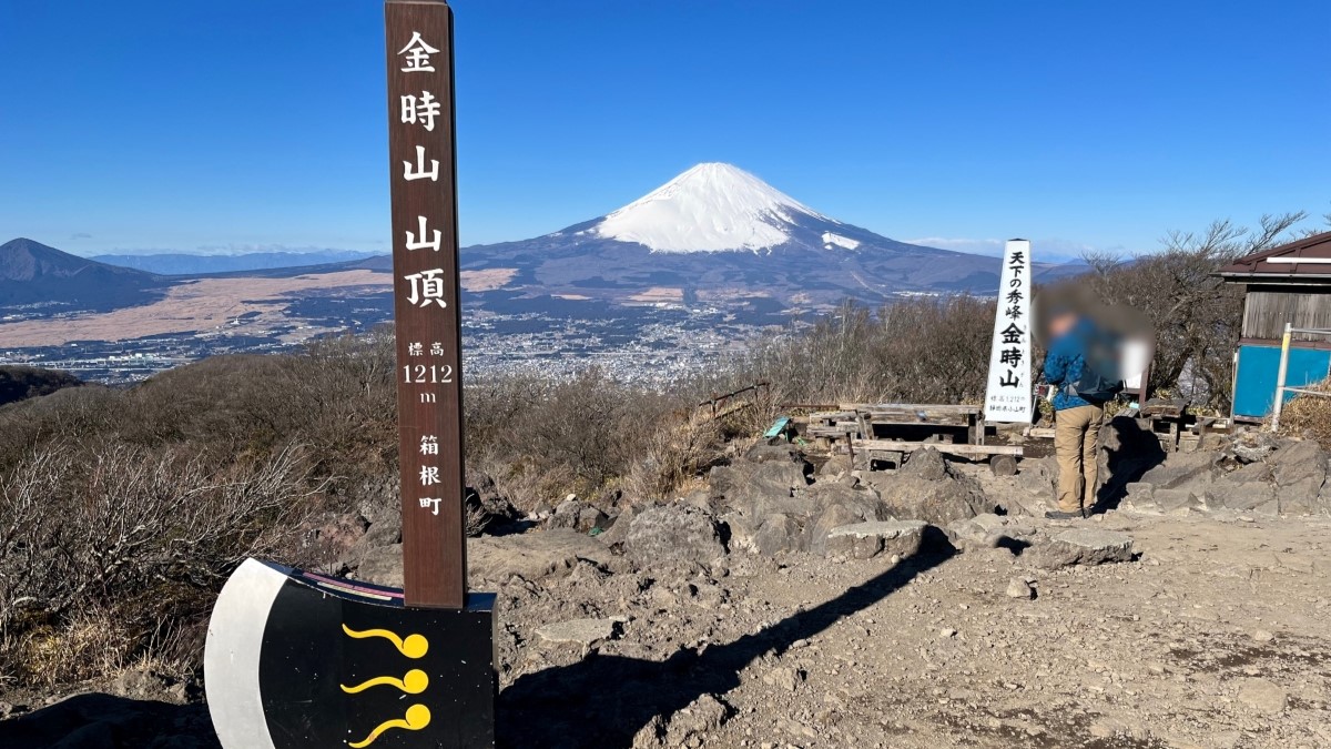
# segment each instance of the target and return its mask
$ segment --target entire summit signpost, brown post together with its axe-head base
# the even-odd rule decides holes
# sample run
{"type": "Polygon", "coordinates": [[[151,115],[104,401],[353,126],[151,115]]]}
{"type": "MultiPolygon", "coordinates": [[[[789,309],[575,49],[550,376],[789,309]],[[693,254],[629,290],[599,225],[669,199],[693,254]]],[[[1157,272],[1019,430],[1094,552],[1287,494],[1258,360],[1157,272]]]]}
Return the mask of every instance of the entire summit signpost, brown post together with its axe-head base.
{"type": "Polygon", "coordinates": [[[405,589],[246,560],[213,606],[224,749],[494,746],[492,593],[469,593],[453,12],[385,3],[405,589]]]}

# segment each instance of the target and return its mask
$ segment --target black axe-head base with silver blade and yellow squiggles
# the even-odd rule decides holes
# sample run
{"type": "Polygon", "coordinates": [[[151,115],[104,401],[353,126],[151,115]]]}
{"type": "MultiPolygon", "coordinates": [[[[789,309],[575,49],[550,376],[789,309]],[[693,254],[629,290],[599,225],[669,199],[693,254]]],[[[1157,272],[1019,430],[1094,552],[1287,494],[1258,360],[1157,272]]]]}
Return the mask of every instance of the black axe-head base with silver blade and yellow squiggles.
{"type": "Polygon", "coordinates": [[[492,613],[248,560],[208,626],[213,726],[226,749],[492,746],[492,613]]]}

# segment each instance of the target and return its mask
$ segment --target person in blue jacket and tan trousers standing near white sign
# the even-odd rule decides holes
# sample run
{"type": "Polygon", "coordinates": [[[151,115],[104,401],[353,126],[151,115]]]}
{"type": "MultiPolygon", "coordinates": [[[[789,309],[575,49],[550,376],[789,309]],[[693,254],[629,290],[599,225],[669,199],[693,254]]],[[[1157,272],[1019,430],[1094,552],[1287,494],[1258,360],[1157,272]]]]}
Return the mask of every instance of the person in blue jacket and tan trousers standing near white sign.
{"type": "Polygon", "coordinates": [[[1073,311],[1058,312],[1049,321],[1045,380],[1058,388],[1051,398],[1058,510],[1045,516],[1054,520],[1089,517],[1095,508],[1105,404],[1086,400],[1071,388],[1086,368],[1086,351],[1093,335],[1094,324],[1073,311]]]}

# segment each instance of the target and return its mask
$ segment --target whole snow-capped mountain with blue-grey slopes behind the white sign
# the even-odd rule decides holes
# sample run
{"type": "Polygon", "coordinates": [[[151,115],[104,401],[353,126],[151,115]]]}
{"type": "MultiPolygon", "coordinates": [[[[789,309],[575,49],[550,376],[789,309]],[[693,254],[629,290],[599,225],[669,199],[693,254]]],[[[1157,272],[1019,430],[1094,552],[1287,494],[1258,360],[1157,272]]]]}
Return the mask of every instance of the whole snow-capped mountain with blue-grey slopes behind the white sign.
{"type": "MultiPolygon", "coordinates": [[[[998,267],[997,257],[906,244],[839,221],[719,163],[699,164],[602,217],[462,251],[463,287],[487,301],[552,296],[769,313],[825,309],[847,297],[874,304],[904,293],[990,296],[998,267]]],[[[1062,272],[1036,265],[1037,280],[1062,272]]]]}

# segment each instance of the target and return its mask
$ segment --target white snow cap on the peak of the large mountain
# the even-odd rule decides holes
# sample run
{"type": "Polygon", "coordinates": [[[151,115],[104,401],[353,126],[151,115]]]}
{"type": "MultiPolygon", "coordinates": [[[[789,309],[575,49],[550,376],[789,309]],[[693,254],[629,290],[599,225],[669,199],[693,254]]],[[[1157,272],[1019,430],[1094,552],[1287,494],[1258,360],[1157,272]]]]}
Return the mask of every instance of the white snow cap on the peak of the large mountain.
{"type": "Polygon", "coordinates": [[[828,220],[744,169],[707,163],[606,216],[591,231],[652,252],[757,252],[789,240],[801,215],[828,220]]]}

